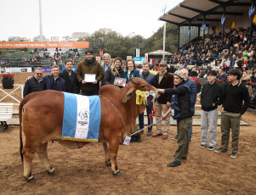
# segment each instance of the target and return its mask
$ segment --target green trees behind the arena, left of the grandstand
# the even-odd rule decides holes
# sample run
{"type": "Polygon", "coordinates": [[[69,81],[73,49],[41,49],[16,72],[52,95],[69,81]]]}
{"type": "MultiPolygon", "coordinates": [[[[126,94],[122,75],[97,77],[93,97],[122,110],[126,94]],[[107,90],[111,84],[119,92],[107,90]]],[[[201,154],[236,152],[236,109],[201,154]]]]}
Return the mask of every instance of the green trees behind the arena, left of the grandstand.
{"type": "MultiPolygon", "coordinates": [[[[163,44],[163,26],[158,29],[151,37],[145,39],[143,36],[122,36],[116,31],[105,31],[100,29],[95,31],[91,36],[78,41],[89,42],[89,47],[94,50],[94,53],[99,55],[100,39],[101,49],[104,53],[110,53],[111,58],[120,57],[126,59],[127,56],[135,56],[135,50],[138,45],[140,56],[145,53],[150,53],[162,49],[163,44]]],[[[178,49],[178,27],[176,25],[166,25],[166,46],[167,52],[175,52],[178,49]]]]}

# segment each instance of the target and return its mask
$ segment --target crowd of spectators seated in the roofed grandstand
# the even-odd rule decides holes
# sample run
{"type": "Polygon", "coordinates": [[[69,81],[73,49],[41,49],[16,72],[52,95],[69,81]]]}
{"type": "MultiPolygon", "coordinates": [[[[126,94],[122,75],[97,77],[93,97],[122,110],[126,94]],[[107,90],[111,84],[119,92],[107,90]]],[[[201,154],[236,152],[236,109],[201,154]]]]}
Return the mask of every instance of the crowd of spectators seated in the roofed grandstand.
{"type": "MultiPolygon", "coordinates": [[[[202,64],[215,61],[217,69],[227,72],[230,68],[242,71],[252,70],[255,66],[256,31],[253,31],[252,41],[249,44],[249,28],[232,29],[224,33],[206,35],[203,44],[202,36],[181,47],[169,59],[169,64],[180,64],[182,68],[193,65],[200,76],[202,64]]],[[[191,69],[189,70],[191,72],[191,69]]],[[[204,70],[205,71],[205,70],[204,70]]]]}

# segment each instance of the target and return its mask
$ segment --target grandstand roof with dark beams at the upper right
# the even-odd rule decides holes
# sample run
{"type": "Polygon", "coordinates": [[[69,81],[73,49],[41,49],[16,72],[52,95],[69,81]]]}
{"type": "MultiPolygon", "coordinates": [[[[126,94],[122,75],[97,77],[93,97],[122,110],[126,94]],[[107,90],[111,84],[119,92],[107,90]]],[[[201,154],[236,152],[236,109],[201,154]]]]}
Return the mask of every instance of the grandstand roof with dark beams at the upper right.
{"type": "MultiPolygon", "coordinates": [[[[202,25],[204,15],[206,25],[219,22],[226,6],[225,15],[240,15],[248,13],[252,0],[185,0],[175,8],[163,14],[158,20],[174,25],[202,25]]],[[[247,15],[246,15],[247,17],[247,15]]]]}

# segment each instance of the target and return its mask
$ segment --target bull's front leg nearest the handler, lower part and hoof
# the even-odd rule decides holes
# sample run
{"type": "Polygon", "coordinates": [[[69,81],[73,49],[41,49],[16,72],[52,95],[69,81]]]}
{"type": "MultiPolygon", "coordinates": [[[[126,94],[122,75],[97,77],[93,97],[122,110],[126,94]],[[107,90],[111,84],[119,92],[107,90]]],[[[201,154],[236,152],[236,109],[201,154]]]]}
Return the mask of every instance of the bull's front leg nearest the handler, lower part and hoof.
{"type": "Polygon", "coordinates": [[[118,170],[117,167],[117,152],[119,148],[120,138],[115,137],[116,139],[112,139],[110,142],[107,143],[108,151],[110,153],[111,158],[111,170],[113,171],[113,175],[121,176],[122,173],[118,170]]]}

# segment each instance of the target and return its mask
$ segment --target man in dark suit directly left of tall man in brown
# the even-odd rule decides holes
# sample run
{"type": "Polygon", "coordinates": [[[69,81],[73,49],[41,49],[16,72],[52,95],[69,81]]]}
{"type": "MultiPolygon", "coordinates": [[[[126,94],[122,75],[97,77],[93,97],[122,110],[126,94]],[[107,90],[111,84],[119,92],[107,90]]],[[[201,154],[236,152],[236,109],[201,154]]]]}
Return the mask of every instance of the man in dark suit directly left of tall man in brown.
{"type": "Polygon", "coordinates": [[[77,81],[75,72],[72,70],[73,64],[70,59],[65,61],[65,70],[60,72],[60,77],[65,80],[66,92],[77,93],[80,92],[80,86],[77,81]]]}

